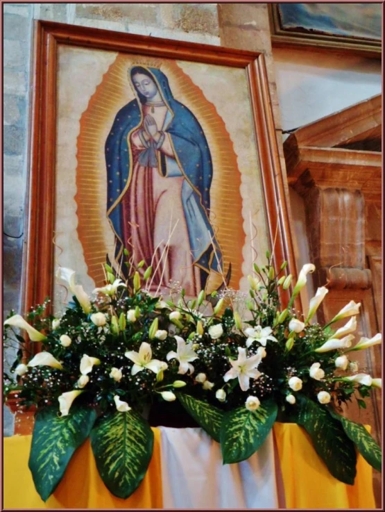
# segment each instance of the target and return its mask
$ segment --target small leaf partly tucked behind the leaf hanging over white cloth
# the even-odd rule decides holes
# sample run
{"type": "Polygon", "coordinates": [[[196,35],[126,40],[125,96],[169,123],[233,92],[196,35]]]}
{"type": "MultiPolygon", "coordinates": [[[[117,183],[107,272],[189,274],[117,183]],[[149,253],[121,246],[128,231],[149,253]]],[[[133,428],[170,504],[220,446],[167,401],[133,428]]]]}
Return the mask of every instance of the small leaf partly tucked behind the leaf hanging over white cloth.
{"type": "Polygon", "coordinates": [[[178,399],[191,418],[219,443],[223,418],[221,409],[183,393],[178,393],[178,399]]]}

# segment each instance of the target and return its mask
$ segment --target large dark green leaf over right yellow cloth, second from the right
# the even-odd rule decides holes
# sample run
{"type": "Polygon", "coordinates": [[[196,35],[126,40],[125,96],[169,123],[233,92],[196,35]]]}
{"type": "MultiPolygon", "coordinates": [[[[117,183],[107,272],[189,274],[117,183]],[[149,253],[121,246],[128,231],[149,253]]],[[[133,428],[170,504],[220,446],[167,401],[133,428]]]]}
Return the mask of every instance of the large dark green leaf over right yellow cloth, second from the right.
{"type": "Polygon", "coordinates": [[[298,424],[305,428],[316,452],[334,478],[344,484],[354,484],[357,454],[354,444],[345,434],[341,422],[313,400],[298,396],[298,424]]]}

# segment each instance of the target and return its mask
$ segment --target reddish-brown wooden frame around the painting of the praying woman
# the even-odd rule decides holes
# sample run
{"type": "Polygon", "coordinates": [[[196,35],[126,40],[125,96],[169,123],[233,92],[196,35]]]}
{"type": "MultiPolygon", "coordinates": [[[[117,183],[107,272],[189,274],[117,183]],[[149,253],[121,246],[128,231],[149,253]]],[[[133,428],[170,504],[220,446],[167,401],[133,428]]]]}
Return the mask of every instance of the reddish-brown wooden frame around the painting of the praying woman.
{"type": "MultiPolygon", "coordinates": [[[[259,167],[262,175],[266,229],[276,267],[288,261],[296,275],[289,217],[275,138],[264,55],[250,51],[191,44],[139,35],[38,21],[31,123],[31,172],[28,196],[28,242],[24,273],[24,311],[52,297],[54,281],[55,155],[58,113],[57,71],[60,45],[127,52],[149,58],[180,59],[244,69],[259,167]]],[[[289,292],[282,292],[287,304],[289,292]]]]}

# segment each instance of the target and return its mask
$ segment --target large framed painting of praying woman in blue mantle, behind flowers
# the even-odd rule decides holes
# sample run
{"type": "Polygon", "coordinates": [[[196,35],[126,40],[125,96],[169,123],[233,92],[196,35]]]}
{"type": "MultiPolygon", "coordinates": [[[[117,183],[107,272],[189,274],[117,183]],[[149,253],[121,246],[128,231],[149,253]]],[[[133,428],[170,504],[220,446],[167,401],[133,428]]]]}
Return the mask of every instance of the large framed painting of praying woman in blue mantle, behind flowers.
{"type": "Polygon", "coordinates": [[[125,249],[162,295],[295,272],[262,54],[37,22],[33,94],[26,308],[125,249]]]}

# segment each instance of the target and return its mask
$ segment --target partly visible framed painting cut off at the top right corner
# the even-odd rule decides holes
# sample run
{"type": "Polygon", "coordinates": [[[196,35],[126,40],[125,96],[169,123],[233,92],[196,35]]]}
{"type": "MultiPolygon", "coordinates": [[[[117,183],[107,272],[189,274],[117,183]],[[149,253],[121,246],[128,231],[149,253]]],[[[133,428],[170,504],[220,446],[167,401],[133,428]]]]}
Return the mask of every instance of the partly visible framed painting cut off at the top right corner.
{"type": "Polygon", "coordinates": [[[382,3],[271,3],[275,47],[352,51],[381,58],[382,3]]]}

